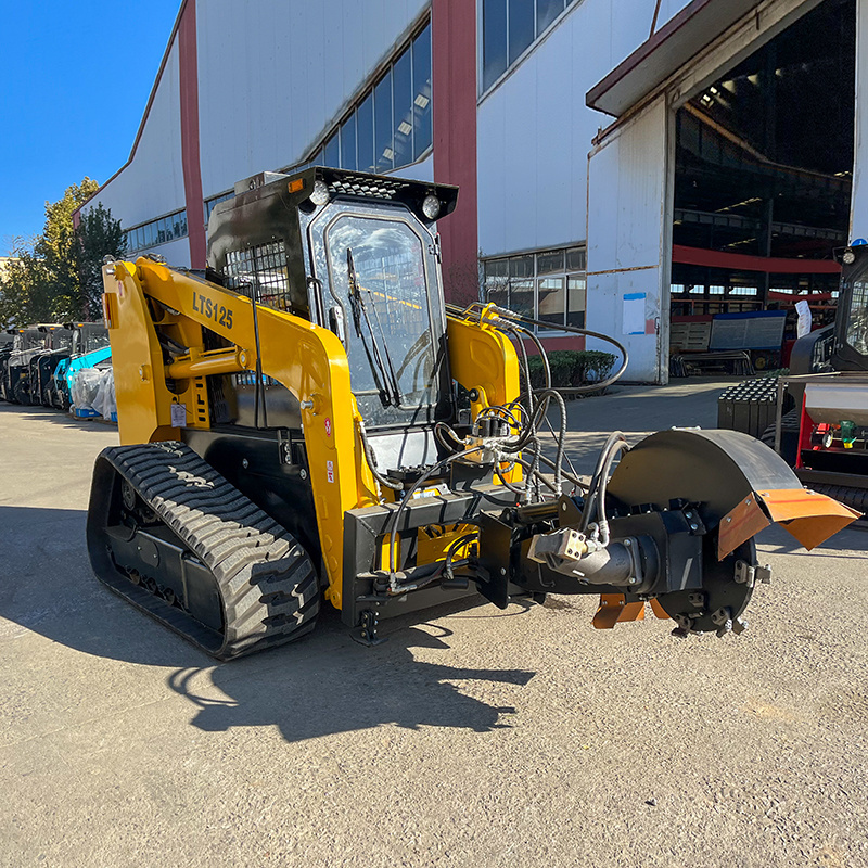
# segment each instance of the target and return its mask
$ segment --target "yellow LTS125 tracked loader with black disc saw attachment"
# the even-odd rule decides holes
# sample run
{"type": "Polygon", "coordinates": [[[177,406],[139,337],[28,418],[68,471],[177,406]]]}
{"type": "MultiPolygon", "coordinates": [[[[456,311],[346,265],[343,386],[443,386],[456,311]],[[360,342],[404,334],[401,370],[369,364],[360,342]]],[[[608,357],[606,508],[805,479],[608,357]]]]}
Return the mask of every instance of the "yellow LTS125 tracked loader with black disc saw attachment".
{"type": "Polygon", "coordinates": [[[206,272],[104,267],[124,445],[88,515],[97,575],[208,653],[296,639],[321,601],[373,644],[384,617],[476,593],[740,633],[768,578],[754,534],[810,548],[853,520],[737,432],[612,433],[589,481],[565,468],[563,399],[528,386],[535,321],[444,303],[455,188],[311,168],[235,192],[206,272]]]}

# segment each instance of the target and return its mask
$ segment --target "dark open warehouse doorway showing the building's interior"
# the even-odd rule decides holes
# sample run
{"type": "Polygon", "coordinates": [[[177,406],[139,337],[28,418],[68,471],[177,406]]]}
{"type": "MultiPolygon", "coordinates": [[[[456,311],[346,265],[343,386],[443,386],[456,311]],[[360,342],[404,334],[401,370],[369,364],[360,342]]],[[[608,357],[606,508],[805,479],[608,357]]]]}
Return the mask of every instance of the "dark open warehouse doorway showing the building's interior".
{"type": "Polygon", "coordinates": [[[855,0],[825,0],[678,110],[672,375],[786,367],[796,302],[834,318],[855,68],[855,0]]]}

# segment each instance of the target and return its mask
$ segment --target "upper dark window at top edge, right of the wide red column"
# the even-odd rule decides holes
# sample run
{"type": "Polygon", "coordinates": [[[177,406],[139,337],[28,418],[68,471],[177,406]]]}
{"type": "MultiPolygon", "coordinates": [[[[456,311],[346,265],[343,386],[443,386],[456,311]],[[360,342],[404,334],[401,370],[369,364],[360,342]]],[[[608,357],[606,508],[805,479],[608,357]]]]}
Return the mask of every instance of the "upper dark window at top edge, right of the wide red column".
{"type": "Polygon", "coordinates": [[[483,0],[482,89],[488,90],[575,0],[483,0]]]}

